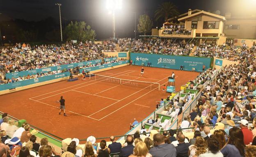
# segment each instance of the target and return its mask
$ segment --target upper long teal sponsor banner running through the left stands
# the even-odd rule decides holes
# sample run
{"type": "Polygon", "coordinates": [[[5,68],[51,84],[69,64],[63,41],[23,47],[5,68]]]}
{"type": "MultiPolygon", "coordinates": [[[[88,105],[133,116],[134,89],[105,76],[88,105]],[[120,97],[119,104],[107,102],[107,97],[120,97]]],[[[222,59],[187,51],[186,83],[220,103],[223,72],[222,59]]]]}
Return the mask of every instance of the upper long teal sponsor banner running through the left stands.
{"type": "MultiPolygon", "coordinates": [[[[115,57],[116,58],[116,57],[115,57]]],[[[59,66],[50,66],[50,67],[46,67],[46,68],[42,68],[42,69],[33,69],[33,70],[29,70],[29,71],[20,71],[20,72],[15,72],[15,73],[7,73],[6,74],[6,78],[11,79],[12,77],[14,78],[18,78],[19,76],[23,77],[24,75],[35,75],[37,73],[47,73],[49,71],[57,71],[57,70],[63,70],[63,69],[72,69],[76,66],[86,66],[89,64],[96,64],[96,63],[101,63],[102,60],[91,60],[91,61],[85,61],[85,62],[79,62],[79,63],[72,63],[72,64],[64,64],[64,65],[59,65],[59,66]]]]}

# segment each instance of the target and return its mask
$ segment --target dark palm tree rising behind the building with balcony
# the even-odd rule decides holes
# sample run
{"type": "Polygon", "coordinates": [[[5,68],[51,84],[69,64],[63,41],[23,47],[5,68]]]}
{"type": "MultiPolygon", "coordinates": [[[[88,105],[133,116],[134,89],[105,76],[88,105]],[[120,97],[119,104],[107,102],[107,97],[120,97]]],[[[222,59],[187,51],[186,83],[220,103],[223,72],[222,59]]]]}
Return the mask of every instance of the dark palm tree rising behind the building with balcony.
{"type": "Polygon", "coordinates": [[[171,2],[163,2],[158,5],[158,9],[155,11],[155,20],[164,19],[166,22],[169,18],[174,18],[178,14],[179,12],[176,5],[171,2]]]}

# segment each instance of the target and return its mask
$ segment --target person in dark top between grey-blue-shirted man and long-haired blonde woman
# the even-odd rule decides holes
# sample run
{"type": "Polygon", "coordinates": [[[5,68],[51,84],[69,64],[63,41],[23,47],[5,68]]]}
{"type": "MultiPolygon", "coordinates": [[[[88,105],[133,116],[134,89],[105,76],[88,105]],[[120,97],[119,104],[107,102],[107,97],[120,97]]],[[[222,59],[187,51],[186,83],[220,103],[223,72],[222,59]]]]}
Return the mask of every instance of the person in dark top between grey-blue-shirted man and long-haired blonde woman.
{"type": "Polygon", "coordinates": [[[185,143],[185,136],[184,135],[178,135],[178,146],[176,146],[176,153],[177,157],[188,157],[188,147],[190,146],[189,143],[185,143]]]}

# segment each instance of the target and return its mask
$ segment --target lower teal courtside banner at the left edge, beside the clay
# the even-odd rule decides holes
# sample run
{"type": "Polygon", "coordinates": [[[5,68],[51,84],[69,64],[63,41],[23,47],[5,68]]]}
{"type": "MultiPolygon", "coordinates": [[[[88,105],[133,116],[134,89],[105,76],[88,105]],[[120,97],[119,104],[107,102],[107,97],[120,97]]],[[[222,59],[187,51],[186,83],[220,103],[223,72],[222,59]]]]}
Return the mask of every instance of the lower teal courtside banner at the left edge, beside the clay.
{"type": "Polygon", "coordinates": [[[34,84],[34,83],[49,81],[49,80],[53,80],[53,79],[57,79],[57,78],[61,78],[61,77],[66,77],[69,75],[70,75],[69,72],[65,72],[65,73],[58,73],[55,75],[38,77],[38,78],[30,79],[30,80],[14,82],[14,83],[10,83],[10,84],[2,84],[2,85],[0,85],[0,91],[7,90],[7,89],[13,89],[13,88],[21,87],[21,86],[27,86],[27,85],[34,84]]]}

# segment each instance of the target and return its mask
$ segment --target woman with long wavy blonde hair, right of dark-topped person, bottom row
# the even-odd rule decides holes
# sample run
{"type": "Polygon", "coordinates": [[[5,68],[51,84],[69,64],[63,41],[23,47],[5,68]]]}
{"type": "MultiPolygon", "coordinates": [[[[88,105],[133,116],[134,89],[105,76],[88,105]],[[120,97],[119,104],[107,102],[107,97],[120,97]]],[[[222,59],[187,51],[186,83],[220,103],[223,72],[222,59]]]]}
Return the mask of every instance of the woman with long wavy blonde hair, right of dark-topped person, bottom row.
{"type": "Polygon", "coordinates": [[[204,140],[201,136],[198,136],[195,144],[190,145],[188,149],[189,157],[194,157],[195,155],[198,157],[200,154],[207,152],[206,145],[204,144],[204,140]]]}

